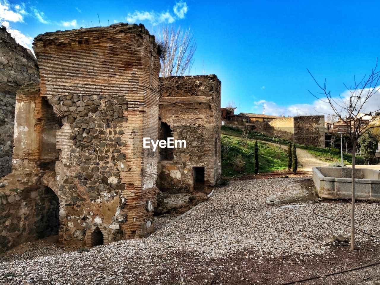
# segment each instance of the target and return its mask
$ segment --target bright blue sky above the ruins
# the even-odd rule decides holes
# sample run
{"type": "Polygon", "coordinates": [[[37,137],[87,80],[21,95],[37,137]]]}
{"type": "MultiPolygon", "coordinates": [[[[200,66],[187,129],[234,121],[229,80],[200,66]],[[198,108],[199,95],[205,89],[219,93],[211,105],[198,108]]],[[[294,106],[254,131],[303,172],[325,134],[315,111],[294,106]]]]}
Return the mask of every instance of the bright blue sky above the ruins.
{"type": "MultiPolygon", "coordinates": [[[[379,56],[380,2],[367,1],[28,1],[0,0],[0,17],[31,46],[44,32],[115,22],[191,27],[197,49],[192,74],[216,74],[222,106],[237,111],[307,115],[326,109],[306,68],[332,95],[363,77],[379,56]],[[240,105],[240,110],[239,110],[240,105]]],[[[347,93],[347,92],[346,92],[347,93]]],[[[371,105],[379,105],[380,95],[371,105]]],[[[377,108],[378,109],[378,108],[377,108]]],[[[369,110],[370,111],[370,110],[369,110]]]]}

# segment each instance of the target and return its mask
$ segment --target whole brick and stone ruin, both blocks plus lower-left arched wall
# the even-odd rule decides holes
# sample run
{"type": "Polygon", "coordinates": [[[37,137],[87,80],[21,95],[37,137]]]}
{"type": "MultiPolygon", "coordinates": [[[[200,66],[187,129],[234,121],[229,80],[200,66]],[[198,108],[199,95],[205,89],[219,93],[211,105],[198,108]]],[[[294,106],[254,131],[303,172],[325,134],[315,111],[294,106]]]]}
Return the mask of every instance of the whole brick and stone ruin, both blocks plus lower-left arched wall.
{"type": "Polygon", "coordinates": [[[25,57],[7,68],[28,76],[0,90],[13,100],[17,91],[14,115],[12,99],[0,105],[6,122],[14,118],[12,172],[0,180],[0,250],[52,234],[88,247],[143,237],[155,230],[159,189],[205,191],[217,182],[220,81],[159,78],[160,49],[143,25],[38,35],[40,82],[31,55],[7,45],[9,62],[25,57]],[[154,152],[143,147],[146,137],[185,139],[186,148],[154,152]]]}

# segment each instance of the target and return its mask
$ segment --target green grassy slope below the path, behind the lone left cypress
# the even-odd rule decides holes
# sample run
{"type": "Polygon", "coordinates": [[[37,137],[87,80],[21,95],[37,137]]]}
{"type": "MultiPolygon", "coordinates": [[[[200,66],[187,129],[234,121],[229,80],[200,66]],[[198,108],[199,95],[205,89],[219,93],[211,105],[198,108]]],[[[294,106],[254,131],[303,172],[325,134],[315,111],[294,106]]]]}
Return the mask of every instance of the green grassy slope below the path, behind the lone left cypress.
{"type": "MultiPolygon", "coordinates": [[[[222,175],[225,177],[253,174],[253,147],[255,141],[222,135],[222,175]]],[[[283,149],[258,142],[259,173],[287,168],[283,149]]]]}

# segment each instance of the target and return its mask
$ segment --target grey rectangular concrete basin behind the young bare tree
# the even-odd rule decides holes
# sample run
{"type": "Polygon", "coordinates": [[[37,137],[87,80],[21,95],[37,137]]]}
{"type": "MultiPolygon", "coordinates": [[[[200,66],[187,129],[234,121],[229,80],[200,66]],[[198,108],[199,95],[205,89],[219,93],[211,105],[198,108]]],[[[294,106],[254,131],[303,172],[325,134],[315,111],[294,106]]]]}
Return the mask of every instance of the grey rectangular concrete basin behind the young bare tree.
{"type": "MultiPolygon", "coordinates": [[[[351,168],[313,167],[313,181],[321,198],[351,199],[351,168]]],[[[355,197],[380,201],[380,172],[355,168],[355,197]]]]}

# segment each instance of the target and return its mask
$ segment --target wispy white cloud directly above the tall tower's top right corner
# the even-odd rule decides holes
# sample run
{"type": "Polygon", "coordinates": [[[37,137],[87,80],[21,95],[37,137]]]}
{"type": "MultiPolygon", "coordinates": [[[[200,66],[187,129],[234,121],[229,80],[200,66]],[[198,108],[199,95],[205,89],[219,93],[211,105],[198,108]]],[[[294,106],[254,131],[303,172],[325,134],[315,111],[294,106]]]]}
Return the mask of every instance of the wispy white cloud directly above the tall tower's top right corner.
{"type": "Polygon", "coordinates": [[[186,2],[177,2],[173,7],[175,15],[172,15],[169,11],[163,11],[161,13],[155,11],[135,11],[133,14],[128,13],[125,19],[128,23],[136,23],[141,21],[149,21],[152,25],[157,25],[163,22],[169,24],[173,23],[177,19],[183,19],[187,13],[186,2]]]}

